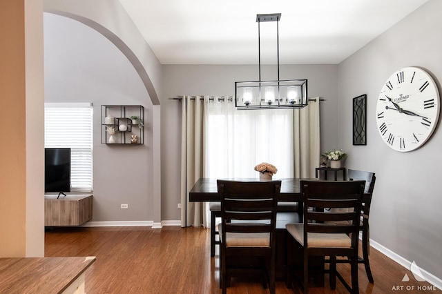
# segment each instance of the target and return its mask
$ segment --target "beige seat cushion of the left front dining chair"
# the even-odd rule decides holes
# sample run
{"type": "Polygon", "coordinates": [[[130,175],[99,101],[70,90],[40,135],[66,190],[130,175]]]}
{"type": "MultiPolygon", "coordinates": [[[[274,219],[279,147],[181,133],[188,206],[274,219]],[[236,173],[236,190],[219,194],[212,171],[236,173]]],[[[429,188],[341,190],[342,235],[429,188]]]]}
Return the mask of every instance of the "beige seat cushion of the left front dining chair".
{"type": "MultiPolygon", "coordinates": [[[[256,225],[256,224],[254,224],[256,225]]],[[[222,226],[217,226],[222,242],[222,226]]],[[[270,247],[270,233],[226,233],[227,247],[270,247]]]]}

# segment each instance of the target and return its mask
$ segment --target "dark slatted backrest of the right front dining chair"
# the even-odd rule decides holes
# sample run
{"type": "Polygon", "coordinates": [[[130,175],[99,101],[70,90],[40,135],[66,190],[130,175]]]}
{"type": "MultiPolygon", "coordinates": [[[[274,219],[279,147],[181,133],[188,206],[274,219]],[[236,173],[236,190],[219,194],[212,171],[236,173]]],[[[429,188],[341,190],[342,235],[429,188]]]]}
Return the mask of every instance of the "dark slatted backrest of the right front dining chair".
{"type": "Polygon", "coordinates": [[[352,247],[357,246],[365,181],[300,181],[300,186],[304,240],[309,233],[345,233],[352,234],[352,247]]]}

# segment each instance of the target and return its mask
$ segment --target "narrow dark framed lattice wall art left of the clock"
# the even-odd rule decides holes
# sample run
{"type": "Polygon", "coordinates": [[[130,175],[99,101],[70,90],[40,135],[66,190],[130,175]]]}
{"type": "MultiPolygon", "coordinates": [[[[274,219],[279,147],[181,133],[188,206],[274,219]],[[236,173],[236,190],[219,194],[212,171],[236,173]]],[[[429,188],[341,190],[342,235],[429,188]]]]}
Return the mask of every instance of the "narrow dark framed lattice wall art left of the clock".
{"type": "Polygon", "coordinates": [[[353,98],[353,145],[367,145],[367,95],[353,98]]]}

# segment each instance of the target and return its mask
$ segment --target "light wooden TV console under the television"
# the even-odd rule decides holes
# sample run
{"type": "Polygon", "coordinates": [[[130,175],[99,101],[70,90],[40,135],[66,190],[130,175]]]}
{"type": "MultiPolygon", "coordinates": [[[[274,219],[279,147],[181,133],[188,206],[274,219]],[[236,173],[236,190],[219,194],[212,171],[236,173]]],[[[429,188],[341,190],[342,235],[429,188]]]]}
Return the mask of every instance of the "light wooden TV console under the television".
{"type": "Polygon", "coordinates": [[[45,226],[81,226],[92,219],[92,195],[45,195],[45,226]]]}

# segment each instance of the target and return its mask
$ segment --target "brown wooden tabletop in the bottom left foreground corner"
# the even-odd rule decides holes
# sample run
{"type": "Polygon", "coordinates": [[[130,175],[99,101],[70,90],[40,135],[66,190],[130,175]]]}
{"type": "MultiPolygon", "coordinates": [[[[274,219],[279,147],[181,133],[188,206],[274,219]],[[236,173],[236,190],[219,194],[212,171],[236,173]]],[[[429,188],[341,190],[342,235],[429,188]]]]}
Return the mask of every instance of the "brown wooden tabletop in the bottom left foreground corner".
{"type": "Polygon", "coordinates": [[[0,258],[0,293],[84,293],[95,257],[0,258]]]}

